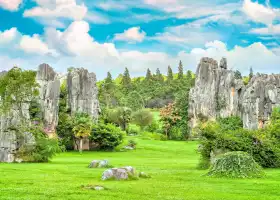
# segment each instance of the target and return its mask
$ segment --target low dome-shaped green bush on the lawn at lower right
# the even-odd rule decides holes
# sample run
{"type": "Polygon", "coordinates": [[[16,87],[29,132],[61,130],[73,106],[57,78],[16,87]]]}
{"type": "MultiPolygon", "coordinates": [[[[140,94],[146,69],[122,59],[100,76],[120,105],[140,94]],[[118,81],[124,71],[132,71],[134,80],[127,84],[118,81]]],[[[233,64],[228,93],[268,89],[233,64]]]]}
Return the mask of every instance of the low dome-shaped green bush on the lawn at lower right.
{"type": "Polygon", "coordinates": [[[262,168],[246,152],[229,152],[218,158],[208,176],[227,178],[259,178],[264,175],[262,168]]]}

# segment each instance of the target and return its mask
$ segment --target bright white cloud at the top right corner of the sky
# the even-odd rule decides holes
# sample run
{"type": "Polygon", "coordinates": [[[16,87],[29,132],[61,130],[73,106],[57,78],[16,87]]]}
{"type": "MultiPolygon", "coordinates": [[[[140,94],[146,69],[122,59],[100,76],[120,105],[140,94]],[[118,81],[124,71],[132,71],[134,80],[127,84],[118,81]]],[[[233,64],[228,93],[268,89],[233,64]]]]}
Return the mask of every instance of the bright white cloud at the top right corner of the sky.
{"type": "Polygon", "coordinates": [[[244,0],[243,11],[247,14],[251,20],[263,24],[270,25],[277,17],[277,10],[259,4],[258,2],[252,2],[251,0],[244,0]]]}

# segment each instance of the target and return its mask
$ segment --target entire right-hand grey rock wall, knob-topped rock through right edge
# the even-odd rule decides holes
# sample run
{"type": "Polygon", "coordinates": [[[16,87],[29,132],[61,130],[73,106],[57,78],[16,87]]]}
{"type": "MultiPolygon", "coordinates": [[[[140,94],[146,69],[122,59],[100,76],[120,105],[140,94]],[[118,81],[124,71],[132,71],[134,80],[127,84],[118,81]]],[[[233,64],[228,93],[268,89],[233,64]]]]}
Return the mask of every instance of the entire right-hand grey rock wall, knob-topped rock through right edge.
{"type": "Polygon", "coordinates": [[[190,126],[199,120],[240,116],[244,128],[257,129],[269,120],[272,109],[280,106],[280,75],[256,75],[245,86],[227,70],[227,61],[202,58],[189,99],[190,126]]]}

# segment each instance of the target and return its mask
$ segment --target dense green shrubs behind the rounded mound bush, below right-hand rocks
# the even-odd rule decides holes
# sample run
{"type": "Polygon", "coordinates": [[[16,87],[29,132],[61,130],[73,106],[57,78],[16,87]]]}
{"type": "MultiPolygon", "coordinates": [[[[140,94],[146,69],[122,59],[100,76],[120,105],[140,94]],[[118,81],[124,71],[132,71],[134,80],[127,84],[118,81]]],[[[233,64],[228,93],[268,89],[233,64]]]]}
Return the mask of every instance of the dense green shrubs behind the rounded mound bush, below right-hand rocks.
{"type": "Polygon", "coordinates": [[[200,125],[201,167],[208,167],[211,157],[229,151],[244,151],[262,167],[280,166],[279,109],[274,109],[272,121],[264,129],[247,130],[237,117],[205,122],[200,125]],[[216,154],[216,155],[215,155],[216,154]]]}

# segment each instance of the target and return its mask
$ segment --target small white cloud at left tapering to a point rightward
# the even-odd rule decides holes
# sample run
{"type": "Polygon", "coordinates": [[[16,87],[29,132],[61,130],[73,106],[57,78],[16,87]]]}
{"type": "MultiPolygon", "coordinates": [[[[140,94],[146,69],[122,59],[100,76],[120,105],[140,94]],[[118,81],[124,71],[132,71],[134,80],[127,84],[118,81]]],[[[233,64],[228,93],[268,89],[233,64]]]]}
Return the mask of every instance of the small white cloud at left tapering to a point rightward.
{"type": "Polygon", "coordinates": [[[58,56],[57,52],[49,49],[48,45],[44,43],[37,34],[34,34],[31,37],[23,35],[20,40],[19,47],[26,53],[58,56]]]}

